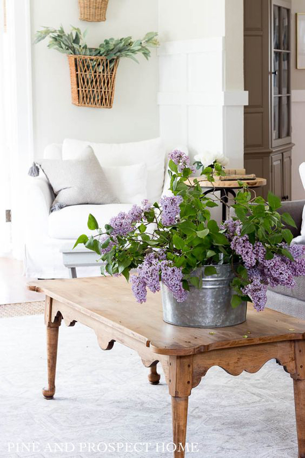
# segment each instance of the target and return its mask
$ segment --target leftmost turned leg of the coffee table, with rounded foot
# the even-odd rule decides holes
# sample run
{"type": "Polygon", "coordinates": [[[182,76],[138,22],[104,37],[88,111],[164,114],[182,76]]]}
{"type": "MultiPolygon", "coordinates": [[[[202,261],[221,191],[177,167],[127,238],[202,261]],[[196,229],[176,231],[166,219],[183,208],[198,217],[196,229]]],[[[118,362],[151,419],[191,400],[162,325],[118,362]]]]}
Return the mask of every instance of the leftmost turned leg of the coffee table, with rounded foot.
{"type": "Polygon", "coordinates": [[[58,330],[60,323],[49,323],[47,329],[47,358],[48,358],[48,386],[43,388],[42,394],[46,399],[52,399],[55,394],[55,373],[57,359],[58,330]]]}

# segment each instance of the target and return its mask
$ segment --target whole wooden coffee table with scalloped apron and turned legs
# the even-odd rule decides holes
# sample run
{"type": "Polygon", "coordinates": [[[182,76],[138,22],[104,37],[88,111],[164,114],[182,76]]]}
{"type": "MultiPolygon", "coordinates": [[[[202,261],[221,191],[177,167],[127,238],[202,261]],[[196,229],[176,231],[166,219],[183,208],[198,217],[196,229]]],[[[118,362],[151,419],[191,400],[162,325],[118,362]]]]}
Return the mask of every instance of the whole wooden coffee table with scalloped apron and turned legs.
{"type": "Polygon", "coordinates": [[[163,321],[160,294],[148,293],[147,302],[139,305],[124,278],[37,280],[28,288],[46,295],[47,399],[55,393],[58,327],[62,320],[67,326],[84,324],[95,331],[103,350],[111,350],[115,341],[135,350],[153,368],[150,381],[155,383],[160,361],[172,399],[174,457],[183,458],[188,398],[207,370],[217,365],[234,376],[243,370],[255,373],[275,358],[293,379],[298,457],[305,457],[305,321],[249,306],[247,321],[238,326],[182,328],[163,321]]]}

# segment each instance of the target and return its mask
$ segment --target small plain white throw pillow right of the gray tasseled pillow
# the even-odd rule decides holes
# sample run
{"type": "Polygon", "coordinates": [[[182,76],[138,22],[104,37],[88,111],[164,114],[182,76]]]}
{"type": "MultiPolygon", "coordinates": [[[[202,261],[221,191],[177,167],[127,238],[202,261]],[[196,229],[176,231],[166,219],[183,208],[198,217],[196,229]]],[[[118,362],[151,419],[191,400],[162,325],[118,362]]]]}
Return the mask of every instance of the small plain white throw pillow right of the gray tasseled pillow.
{"type": "Polygon", "coordinates": [[[140,204],[147,198],[146,164],[102,167],[120,204],[140,204]]]}

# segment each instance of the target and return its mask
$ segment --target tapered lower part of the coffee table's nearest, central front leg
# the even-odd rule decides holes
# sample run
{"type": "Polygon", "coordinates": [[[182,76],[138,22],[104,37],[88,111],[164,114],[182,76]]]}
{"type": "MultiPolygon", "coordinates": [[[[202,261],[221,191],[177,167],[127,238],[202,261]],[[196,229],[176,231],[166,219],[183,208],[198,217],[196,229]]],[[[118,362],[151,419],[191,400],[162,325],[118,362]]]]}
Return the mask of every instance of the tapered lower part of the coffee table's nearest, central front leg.
{"type": "Polygon", "coordinates": [[[184,458],[187,438],[189,397],[172,396],[174,458],[184,458]]]}

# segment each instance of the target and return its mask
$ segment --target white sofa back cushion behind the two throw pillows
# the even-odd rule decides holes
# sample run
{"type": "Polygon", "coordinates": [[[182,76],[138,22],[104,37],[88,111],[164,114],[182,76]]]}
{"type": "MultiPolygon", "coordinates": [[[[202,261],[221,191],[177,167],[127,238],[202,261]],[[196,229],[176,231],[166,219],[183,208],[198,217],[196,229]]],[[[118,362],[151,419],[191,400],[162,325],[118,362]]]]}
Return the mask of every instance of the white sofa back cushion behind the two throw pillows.
{"type": "Polygon", "coordinates": [[[66,138],[63,143],[63,159],[74,159],[90,145],[100,164],[106,167],[145,163],[147,166],[147,199],[159,201],[164,181],[165,147],[161,138],[133,143],[108,144],[66,138]]]}

